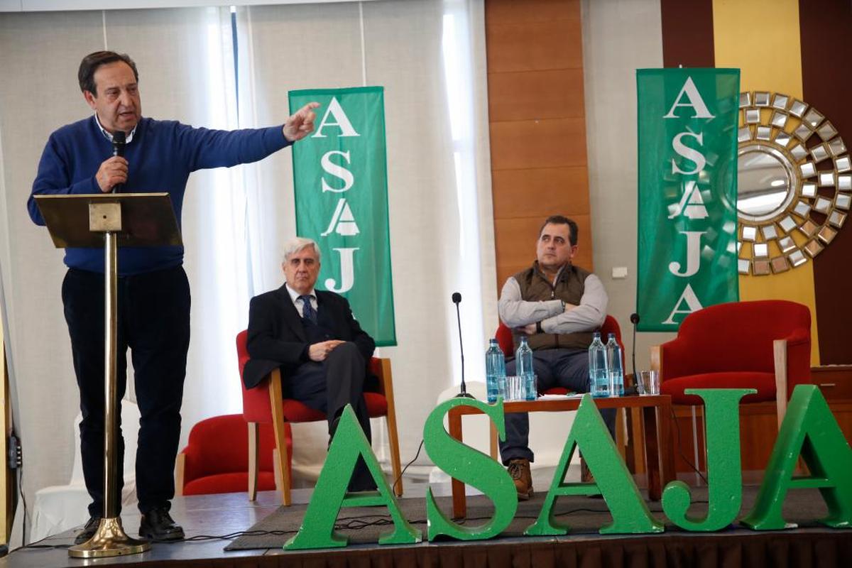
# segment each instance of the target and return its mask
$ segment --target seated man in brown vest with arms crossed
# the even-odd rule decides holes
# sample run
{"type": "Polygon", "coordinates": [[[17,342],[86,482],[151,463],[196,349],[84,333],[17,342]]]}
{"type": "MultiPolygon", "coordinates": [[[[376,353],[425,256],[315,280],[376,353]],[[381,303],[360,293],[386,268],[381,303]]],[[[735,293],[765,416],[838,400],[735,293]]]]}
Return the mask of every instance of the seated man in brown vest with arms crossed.
{"type": "MultiPolygon", "coordinates": [[[[566,387],[578,393],[589,391],[588,349],[592,332],[607,318],[607,292],[600,278],[573,266],[577,253],[577,223],[562,215],[551,215],[538,232],[536,258],[532,267],[506,280],[500,293],[500,319],[515,336],[521,335],[533,349],[533,370],[538,390],[566,387]]],[[[515,361],[506,364],[506,374],[515,374],[515,361]]],[[[602,411],[610,432],[614,411],[602,411]]],[[[520,499],[533,495],[526,413],[507,414],[506,439],[500,456],[515,480],[520,499]]]]}

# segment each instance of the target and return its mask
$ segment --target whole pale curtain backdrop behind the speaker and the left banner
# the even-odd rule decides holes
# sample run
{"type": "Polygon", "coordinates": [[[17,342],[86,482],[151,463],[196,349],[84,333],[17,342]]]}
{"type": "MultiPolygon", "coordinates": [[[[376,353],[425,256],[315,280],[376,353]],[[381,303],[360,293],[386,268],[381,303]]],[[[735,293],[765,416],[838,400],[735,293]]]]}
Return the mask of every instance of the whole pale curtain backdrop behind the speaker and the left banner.
{"type": "MultiPolygon", "coordinates": [[[[0,300],[28,502],[70,478],[78,393],[62,251],[29,220],[26,198],[50,132],[89,114],[76,72],[97,49],[135,59],[145,116],[211,128],[282,123],[289,89],[383,85],[399,347],[381,355],[393,359],[404,461],[439,393],[460,380],[454,291],[467,379],[482,380],[485,338],[498,323],[482,0],[238,9],[239,113],[231,33],[222,8],[0,14],[0,300]]],[[[193,337],[181,445],[200,419],[239,412],[234,336],[250,297],[281,284],[280,245],[294,234],[289,151],[190,177],[193,337]]],[[[296,442],[308,479],[325,456],[324,431],[296,442]]],[[[381,445],[383,428],[374,433],[381,445]]]]}

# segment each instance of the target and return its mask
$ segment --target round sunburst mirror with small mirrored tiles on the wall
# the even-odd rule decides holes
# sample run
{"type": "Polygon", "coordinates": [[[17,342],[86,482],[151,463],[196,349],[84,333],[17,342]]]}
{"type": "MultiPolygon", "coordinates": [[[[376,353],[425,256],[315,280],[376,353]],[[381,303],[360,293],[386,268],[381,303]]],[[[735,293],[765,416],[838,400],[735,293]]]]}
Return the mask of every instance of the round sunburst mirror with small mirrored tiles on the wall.
{"type": "Polygon", "coordinates": [[[783,273],[820,254],[852,204],[843,138],[813,106],[740,93],[737,215],[740,274],[783,273]]]}

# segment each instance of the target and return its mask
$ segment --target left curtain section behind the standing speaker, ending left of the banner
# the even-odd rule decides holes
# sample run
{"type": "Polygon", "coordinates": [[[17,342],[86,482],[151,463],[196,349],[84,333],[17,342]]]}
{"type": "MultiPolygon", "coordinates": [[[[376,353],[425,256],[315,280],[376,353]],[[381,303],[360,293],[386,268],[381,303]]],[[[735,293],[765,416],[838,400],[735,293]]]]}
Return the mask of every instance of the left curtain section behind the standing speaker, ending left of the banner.
{"type": "MultiPolygon", "coordinates": [[[[50,132],[89,116],[77,68],[83,55],[105,48],[135,59],[145,116],[237,125],[227,8],[0,15],[0,77],[7,77],[0,82],[0,298],[30,503],[33,491],[71,476],[78,393],[60,301],[62,251],[29,220],[26,199],[50,132]]],[[[181,445],[201,418],[241,409],[233,345],[249,291],[245,228],[232,215],[245,209],[240,175],[239,168],[199,171],[187,186],[183,239],[193,336],[181,445]]],[[[132,391],[132,370],[129,376],[132,391]]]]}

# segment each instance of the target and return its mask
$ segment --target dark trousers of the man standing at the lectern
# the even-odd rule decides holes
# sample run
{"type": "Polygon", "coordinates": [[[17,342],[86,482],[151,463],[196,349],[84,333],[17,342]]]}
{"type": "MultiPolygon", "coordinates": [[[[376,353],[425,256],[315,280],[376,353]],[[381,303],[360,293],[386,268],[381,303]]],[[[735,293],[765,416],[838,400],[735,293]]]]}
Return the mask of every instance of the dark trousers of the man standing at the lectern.
{"type": "MultiPolygon", "coordinates": [[[[83,477],[100,516],[104,501],[104,276],[71,268],[62,282],[80,391],[83,477]]],[[[118,398],[127,385],[127,349],[135,370],[141,422],[136,450],[139,509],[169,508],[175,496],[175,458],[189,348],[189,283],[182,267],[118,278],[118,398]]],[[[118,410],[118,409],[117,409],[118,410]]],[[[121,413],[118,412],[120,422],[121,413]]],[[[118,427],[117,463],[124,462],[118,427]]],[[[116,475],[116,491],[124,480],[116,475]]],[[[117,493],[118,494],[118,493],[117,493]]],[[[118,502],[120,508],[120,500],[118,502]]]]}

